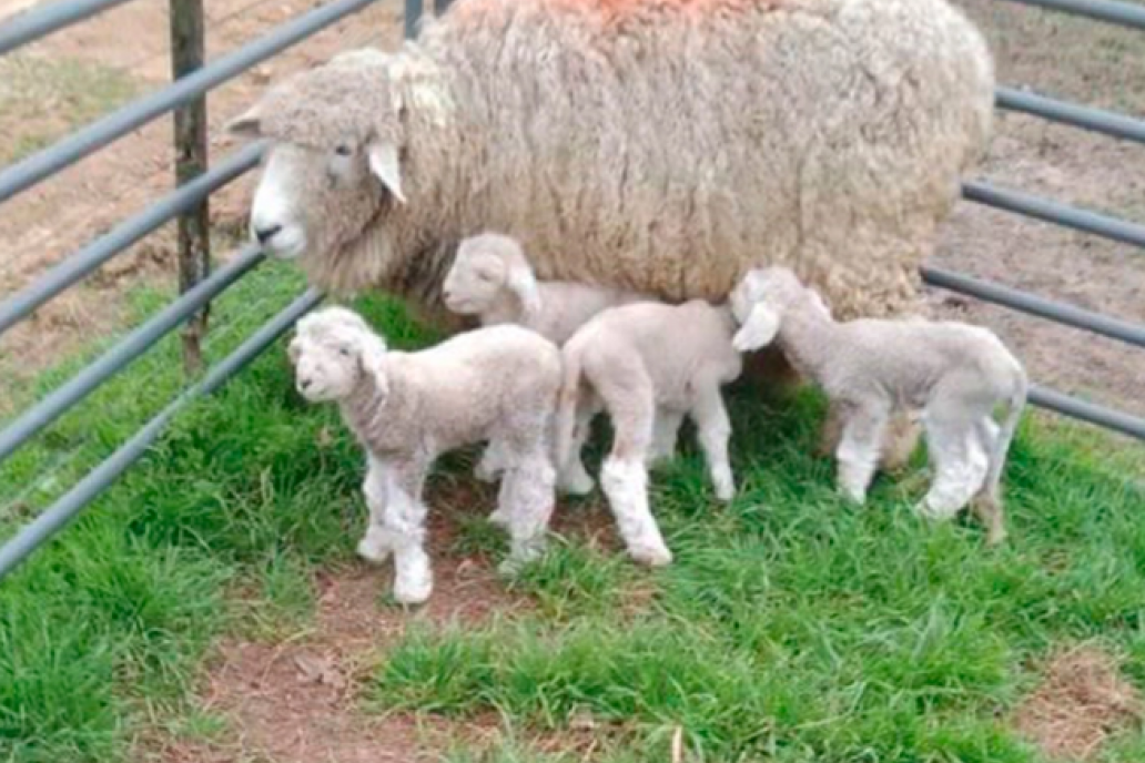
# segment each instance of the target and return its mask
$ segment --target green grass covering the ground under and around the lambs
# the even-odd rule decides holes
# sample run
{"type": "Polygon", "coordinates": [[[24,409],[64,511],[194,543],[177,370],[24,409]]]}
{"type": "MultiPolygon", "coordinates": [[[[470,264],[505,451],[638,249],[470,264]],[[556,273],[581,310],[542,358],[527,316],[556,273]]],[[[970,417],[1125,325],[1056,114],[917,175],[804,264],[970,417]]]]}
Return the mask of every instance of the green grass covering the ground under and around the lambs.
{"type": "MultiPolygon", "coordinates": [[[[215,307],[210,357],[300,288],[284,268],[245,279],[215,307]]],[[[134,310],[167,296],[141,292],[134,310]]],[[[360,307],[397,345],[433,339],[392,303],[360,307]]],[[[47,374],[40,391],[80,361],[47,374]]],[[[182,384],[172,339],[6,463],[0,535],[182,384]]],[[[447,755],[457,763],[582,760],[531,740],[575,736],[586,717],[603,730],[593,760],[608,763],[669,760],[677,729],[695,761],[1017,763],[1040,758],[1008,715],[1052,647],[1097,639],[1145,685],[1139,450],[1027,422],[1008,471],[1011,541],[990,550],[973,523],[917,520],[918,495],[892,480],[878,482],[866,509],[845,506],[830,464],[810,455],[816,396],[744,386],[731,406],[741,486],[731,506],[712,500],[690,436],[654,480],[671,567],[638,569],[575,533],[554,539],[506,583],[535,606],[480,626],[412,619],[362,688],[362,712],[499,716],[491,746],[463,734],[447,755]]],[[[468,479],[465,459],[445,468],[468,479]]],[[[293,392],[281,343],[181,416],[0,585],[0,761],[127,760],[156,724],[226,734],[226,718],[195,704],[210,645],[305,627],[315,571],[352,558],[361,478],[337,412],[293,392]]],[[[492,564],[500,534],[457,518],[451,553],[492,564]]],[[[1101,760],[1139,761],[1143,749],[1145,737],[1129,731],[1101,760]]]]}

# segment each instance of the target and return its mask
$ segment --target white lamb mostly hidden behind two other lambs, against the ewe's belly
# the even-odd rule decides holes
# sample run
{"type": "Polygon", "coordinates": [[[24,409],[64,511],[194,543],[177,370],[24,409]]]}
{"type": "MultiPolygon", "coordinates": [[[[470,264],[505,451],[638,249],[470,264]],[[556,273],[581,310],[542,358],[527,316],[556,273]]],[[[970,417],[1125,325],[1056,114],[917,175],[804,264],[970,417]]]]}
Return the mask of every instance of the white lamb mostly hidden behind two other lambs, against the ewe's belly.
{"type": "MultiPolygon", "coordinates": [[[[601,310],[652,299],[603,286],[538,281],[521,243],[495,232],[471,236],[460,243],[442,283],[442,297],[450,311],[476,316],[482,326],[518,324],[556,344],[563,344],[601,310]]],[[[489,482],[499,469],[500,456],[497,444],[492,443],[475,474],[489,482]]],[[[579,452],[560,471],[558,486],[577,494],[592,490],[592,478],[579,452]]]]}

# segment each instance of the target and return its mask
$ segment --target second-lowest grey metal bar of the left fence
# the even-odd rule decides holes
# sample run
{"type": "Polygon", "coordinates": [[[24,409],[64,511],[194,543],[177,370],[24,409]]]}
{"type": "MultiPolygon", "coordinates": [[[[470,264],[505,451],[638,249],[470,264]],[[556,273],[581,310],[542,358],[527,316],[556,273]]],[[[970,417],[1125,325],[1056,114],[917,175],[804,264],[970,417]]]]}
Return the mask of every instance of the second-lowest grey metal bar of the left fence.
{"type": "Polygon", "coordinates": [[[25,411],[0,431],[0,463],[38,431],[58,419],[116,372],[151,349],[164,335],[187,320],[214,296],[242,278],[266,255],[256,246],[245,247],[238,256],[213,272],[195,288],[152,316],[147,323],[121,339],[113,348],[76,374],[66,384],[25,411]]]}

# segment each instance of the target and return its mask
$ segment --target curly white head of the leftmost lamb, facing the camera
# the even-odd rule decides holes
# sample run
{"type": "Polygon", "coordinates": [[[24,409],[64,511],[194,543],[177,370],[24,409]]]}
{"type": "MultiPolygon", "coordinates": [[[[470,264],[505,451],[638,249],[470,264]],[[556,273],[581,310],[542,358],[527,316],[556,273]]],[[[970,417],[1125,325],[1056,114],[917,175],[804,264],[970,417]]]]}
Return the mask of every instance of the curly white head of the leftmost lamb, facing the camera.
{"type": "Polygon", "coordinates": [[[287,345],[295,387],[310,403],[344,400],[369,375],[378,395],[388,392],[386,342],[346,308],[326,308],[298,321],[287,345]]]}

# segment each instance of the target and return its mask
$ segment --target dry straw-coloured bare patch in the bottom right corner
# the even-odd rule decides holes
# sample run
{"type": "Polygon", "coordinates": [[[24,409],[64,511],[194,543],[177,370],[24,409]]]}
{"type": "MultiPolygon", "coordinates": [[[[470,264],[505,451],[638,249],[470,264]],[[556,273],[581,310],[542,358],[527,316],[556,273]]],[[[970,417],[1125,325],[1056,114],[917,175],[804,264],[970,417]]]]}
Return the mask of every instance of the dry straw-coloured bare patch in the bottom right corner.
{"type": "Polygon", "coordinates": [[[1142,698],[1116,660],[1093,646],[1052,655],[1041,685],[1014,715],[1018,731],[1055,761],[1088,761],[1119,731],[1139,722],[1142,698]]]}

